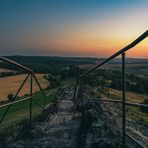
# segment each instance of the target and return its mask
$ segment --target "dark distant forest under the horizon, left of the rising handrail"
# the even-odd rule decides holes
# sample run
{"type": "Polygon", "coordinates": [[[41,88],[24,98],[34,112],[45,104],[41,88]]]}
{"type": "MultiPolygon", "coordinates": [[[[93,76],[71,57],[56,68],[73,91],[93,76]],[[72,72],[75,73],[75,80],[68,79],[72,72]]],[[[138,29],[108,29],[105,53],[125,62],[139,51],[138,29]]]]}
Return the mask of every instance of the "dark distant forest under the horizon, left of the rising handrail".
{"type": "MultiPolygon", "coordinates": [[[[42,56],[8,56],[36,73],[58,73],[61,69],[73,65],[95,64],[97,58],[73,58],[73,57],[42,57],[42,56]]],[[[0,67],[19,71],[18,67],[7,63],[0,63],[0,67]]]]}

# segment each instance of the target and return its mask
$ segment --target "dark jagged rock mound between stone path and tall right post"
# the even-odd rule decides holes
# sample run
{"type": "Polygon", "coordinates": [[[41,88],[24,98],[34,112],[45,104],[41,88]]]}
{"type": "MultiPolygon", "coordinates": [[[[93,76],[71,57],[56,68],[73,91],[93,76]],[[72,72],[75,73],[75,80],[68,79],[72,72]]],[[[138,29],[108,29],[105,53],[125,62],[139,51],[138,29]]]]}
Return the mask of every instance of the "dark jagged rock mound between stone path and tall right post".
{"type": "Polygon", "coordinates": [[[121,132],[115,114],[97,100],[87,100],[79,106],[82,112],[77,133],[77,148],[120,148],[121,132]],[[115,128],[116,127],[116,128],[115,128]]]}

